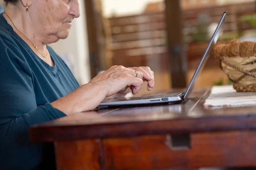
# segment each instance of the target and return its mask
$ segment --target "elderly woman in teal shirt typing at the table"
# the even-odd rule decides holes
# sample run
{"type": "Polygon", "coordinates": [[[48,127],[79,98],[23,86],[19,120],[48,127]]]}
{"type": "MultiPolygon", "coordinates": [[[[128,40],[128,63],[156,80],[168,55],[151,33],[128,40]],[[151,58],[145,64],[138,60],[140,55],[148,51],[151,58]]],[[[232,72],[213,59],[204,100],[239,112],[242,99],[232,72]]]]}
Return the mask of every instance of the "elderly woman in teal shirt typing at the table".
{"type": "MultiPolygon", "coordinates": [[[[79,87],[47,44],[67,38],[78,0],[5,0],[0,14],[0,170],[54,168],[52,145],[29,142],[29,126],[96,108],[105,97],[154,86],[148,67],[113,66],[79,87]]],[[[86,132],[85,132],[86,133],[86,132]]]]}

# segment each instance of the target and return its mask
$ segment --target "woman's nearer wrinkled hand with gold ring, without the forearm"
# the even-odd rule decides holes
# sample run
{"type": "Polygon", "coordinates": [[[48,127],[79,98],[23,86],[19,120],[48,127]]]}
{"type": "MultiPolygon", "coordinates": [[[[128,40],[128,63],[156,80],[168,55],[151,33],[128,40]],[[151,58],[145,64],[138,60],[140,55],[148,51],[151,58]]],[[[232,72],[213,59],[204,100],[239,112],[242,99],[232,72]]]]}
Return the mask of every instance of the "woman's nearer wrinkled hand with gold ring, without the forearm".
{"type": "MultiPolygon", "coordinates": [[[[133,94],[136,94],[140,91],[144,78],[142,72],[137,72],[138,75],[135,77],[136,71],[134,69],[115,65],[94,77],[89,83],[102,86],[106,96],[111,96],[119,91],[125,91],[127,87],[131,89],[133,94]]],[[[145,79],[149,79],[149,77],[145,79]]]]}

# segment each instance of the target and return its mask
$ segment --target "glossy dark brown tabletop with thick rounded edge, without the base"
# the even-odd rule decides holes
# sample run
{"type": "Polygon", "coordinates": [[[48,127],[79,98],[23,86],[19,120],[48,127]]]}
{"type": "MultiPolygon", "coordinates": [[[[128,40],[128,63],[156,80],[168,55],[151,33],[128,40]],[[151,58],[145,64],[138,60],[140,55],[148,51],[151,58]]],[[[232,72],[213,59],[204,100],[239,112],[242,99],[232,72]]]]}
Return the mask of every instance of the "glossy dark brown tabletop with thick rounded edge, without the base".
{"type": "Polygon", "coordinates": [[[52,142],[256,128],[256,106],[207,109],[203,103],[208,94],[209,88],[204,88],[195,90],[188,100],[177,105],[78,113],[32,126],[31,139],[34,142],[52,142]]]}

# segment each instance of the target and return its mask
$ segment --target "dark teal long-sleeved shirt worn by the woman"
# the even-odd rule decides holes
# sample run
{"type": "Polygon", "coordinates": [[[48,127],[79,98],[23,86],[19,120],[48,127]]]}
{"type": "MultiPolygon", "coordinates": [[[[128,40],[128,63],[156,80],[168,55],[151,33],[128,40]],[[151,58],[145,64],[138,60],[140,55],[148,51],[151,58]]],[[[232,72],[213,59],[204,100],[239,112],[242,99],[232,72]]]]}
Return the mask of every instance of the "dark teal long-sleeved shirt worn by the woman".
{"type": "Polygon", "coordinates": [[[65,116],[50,103],[79,84],[64,61],[47,48],[53,67],[0,14],[0,170],[50,170],[54,166],[52,145],[31,143],[29,126],[65,116]]]}

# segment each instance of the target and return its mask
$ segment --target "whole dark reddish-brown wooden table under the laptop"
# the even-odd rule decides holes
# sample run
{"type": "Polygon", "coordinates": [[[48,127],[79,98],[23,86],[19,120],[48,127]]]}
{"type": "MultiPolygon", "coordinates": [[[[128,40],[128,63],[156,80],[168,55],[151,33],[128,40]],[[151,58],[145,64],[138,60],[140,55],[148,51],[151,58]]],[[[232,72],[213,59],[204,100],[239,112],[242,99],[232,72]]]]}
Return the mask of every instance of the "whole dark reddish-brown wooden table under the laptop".
{"type": "Polygon", "coordinates": [[[58,170],[256,166],[256,106],[204,108],[209,90],[178,105],[67,116],[31,127],[31,139],[54,142],[58,170]]]}

